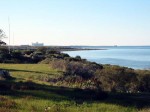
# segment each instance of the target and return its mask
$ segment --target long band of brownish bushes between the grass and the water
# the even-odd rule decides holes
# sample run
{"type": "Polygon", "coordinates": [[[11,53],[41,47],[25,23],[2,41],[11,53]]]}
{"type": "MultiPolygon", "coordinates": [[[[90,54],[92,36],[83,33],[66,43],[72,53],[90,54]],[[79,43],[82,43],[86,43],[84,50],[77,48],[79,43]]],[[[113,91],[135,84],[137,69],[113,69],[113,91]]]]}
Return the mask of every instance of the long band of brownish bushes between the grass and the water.
{"type": "MultiPolygon", "coordinates": [[[[100,65],[85,60],[49,61],[52,69],[63,71],[55,82],[67,83],[80,88],[101,89],[108,92],[139,93],[150,91],[150,71],[127,67],[100,65]]],[[[52,80],[52,79],[51,79],[52,80]]]]}

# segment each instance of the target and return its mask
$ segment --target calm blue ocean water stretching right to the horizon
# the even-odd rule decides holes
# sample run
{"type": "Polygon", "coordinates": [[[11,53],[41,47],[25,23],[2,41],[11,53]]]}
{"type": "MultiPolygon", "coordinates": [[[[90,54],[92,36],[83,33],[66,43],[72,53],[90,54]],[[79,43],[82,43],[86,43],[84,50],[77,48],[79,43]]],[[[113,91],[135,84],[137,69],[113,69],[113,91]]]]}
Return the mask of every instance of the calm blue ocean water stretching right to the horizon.
{"type": "Polygon", "coordinates": [[[81,56],[92,62],[150,69],[150,46],[73,46],[105,50],[66,51],[70,56],[81,56]]]}

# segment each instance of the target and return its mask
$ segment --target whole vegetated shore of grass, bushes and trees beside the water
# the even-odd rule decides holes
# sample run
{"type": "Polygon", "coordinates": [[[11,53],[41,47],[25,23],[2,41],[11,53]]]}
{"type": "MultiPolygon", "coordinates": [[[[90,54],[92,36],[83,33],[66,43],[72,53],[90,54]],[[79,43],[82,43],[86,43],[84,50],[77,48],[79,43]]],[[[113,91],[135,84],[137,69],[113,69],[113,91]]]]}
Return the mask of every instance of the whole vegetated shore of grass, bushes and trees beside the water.
{"type": "Polygon", "coordinates": [[[0,112],[150,111],[148,70],[101,65],[45,47],[9,53],[1,46],[0,62],[9,63],[0,64],[0,112]]]}

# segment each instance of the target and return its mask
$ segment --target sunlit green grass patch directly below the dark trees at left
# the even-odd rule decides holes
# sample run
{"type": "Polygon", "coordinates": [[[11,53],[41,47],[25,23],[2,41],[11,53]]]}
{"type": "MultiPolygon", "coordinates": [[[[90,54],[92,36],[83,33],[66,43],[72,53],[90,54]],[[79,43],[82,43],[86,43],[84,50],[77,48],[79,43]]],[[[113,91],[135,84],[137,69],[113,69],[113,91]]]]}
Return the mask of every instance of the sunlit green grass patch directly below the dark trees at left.
{"type": "Polygon", "coordinates": [[[38,80],[40,77],[60,74],[46,64],[0,64],[0,68],[10,71],[13,77],[20,80],[38,80]]]}

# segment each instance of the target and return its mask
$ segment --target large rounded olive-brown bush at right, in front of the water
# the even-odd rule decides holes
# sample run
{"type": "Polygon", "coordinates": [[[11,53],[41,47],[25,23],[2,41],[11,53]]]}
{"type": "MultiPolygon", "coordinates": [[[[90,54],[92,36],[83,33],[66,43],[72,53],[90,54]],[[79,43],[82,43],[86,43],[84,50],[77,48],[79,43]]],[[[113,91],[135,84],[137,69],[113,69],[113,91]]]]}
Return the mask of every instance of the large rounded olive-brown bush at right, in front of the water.
{"type": "Polygon", "coordinates": [[[97,71],[97,80],[101,82],[104,91],[112,92],[136,92],[138,91],[137,74],[133,69],[106,66],[103,70],[97,71]]]}

